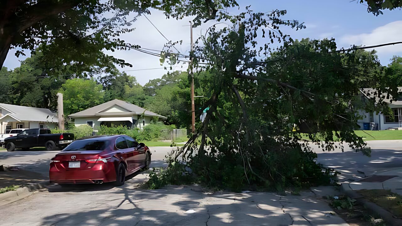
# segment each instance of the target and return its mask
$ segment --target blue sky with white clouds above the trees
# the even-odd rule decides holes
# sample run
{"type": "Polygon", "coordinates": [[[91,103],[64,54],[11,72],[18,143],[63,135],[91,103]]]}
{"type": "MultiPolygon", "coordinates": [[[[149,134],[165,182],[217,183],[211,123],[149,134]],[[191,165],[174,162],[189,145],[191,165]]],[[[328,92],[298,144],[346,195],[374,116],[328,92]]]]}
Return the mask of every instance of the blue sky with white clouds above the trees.
{"type": "MultiPolygon", "coordinates": [[[[291,35],[293,39],[310,37],[311,39],[331,38],[336,39],[338,47],[349,47],[350,45],[376,45],[381,43],[402,41],[402,12],[400,10],[384,10],[384,15],[374,16],[367,12],[367,7],[350,0],[238,0],[240,10],[251,5],[254,11],[267,12],[273,9],[286,9],[284,19],[296,19],[304,22],[306,29],[295,31],[289,28],[281,29],[284,33],[291,35]]],[[[236,13],[237,9],[230,12],[236,13]]],[[[189,25],[191,18],[183,18],[176,21],[166,19],[161,12],[152,11],[148,18],[158,29],[170,40],[180,41],[183,44],[178,46],[181,53],[188,53],[190,49],[189,25]]],[[[199,37],[201,31],[209,27],[213,21],[194,29],[195,38],[199,37]]],[[[162,35],[150,25],[145,18],[139,18],[132,27],[135,31],[123,35],[123,39],[142,47],[162,50],[167,42],[162,35]]],[[[380,47],[377,55],[381,64],[387,65],[393,55],[402,55],[402,45],[380,47]]],[[[27,52],[27,51],[26,51],[27,52]]],[[[18,60],[15,51],[10,51],[4,66],[12,69],[18,67],[18,60]]],[[[119,68],[120,70],[137,70],[160,68],[154,70],[127,71],[127,74],[135,76],[137,81],[144,85],[150,79],[160,78],[166,74],[161,68],[158,57],[146,55],[137,51],[116,51],[110,53],[133,64],[133,68],[119,68]]],[[[28,54],[29,55],[29,54],[28,54]]],[[[185,70],[176,66],[174,70],[185,70]]]]}

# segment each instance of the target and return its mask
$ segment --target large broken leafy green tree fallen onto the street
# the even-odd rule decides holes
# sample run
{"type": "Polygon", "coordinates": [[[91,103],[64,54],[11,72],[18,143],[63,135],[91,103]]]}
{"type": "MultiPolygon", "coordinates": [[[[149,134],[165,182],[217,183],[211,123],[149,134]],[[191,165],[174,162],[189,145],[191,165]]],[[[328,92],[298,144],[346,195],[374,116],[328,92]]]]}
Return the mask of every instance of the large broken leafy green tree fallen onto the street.
{"type": "Polygon", "coordinates": [[[196,111],[207,115],[176,156],[190,157],[208,185],[318,183],[321,169],[300,142],[304,136],[322,140],[324,150],[347,144],[370,155],[354,133],[361,88],[376,88],[379,110],[387,108],[382,94],[397,92],[398,84],[389,84],[373,51],[338,50],[334,39],[292,40],[279,28],[304,26],[283,20],[285,13],[228,16],[228,26],[212,26],[192,53],[193,67],[207,72],[197,80],[209,99],[196,111]]]}

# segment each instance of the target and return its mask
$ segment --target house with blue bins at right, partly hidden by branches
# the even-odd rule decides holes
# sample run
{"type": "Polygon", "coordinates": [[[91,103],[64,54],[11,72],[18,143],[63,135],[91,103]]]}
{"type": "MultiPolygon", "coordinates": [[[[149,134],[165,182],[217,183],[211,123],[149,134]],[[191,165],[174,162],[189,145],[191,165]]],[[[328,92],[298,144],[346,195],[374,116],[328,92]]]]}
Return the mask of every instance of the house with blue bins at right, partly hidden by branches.
{"type": "MultiPolygon", "coordinates": [[[[364,99],[374,98],[375,89],[364,88],[361,90],[361,96],[364,99]]],[[[402,92],[402,87],[398,88],[398,92],[402,92]]],[[[384,97],[387,94],[383,94],[384,97]]],[[[375,100],[379,102],[379,98],[375,97],[375,100]]],[[[383,102],[388,104],[394,115],[384,115],[382,112],[365,112],[360,111],[359,115],[363,116],[363,119],[358,121],[361,129],[368,130],[384,130],[384,129],[402,129],[402,97],[397,97],[396,101],[392,101],[392,96],[385,98],[383,102]],[[366,125],[366,127],[364,127],[366,125]],[[368,126],[368,127],[367,127],[368,126]]]]}

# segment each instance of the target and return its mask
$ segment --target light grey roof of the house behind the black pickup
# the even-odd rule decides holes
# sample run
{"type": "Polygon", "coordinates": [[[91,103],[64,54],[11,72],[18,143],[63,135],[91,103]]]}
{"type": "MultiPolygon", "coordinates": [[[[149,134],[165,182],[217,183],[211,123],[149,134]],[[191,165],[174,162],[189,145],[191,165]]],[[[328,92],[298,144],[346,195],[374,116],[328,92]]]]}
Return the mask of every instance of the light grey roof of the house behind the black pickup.
{"type": "MultiPolygon", "coordinates": [[[[17,121],[43,121],[43,122],[57,122],[57,114],[53,113],[46,108],[27,107],[19,105],[9,105],[0,103],[0,107],[9,111],[6,114],[16,119],[17,121]]],[[[2,118],[6,117],[3,115],[2,118]]]]}

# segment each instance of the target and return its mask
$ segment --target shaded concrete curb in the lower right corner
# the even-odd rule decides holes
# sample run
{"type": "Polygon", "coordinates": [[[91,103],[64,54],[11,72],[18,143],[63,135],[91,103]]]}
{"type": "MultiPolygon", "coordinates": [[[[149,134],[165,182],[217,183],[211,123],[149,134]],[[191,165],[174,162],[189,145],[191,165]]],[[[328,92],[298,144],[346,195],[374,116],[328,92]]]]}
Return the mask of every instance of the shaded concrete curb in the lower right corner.
{"type": "Polygon", "coordinates": [[[340,185],[340,192],[342,192],[344,195],[349,196],[352,199],[356,199],[357,203],[360,203],[365,208],[367,208],[370,214],[381,217],[385,222],[390,224],[390,226],[402,225],[402,219],[396,218],[393,214],[380,207],[379,205],[363,199],[363,195],[360,195],[356,191],[353,191],[351,187],[349,187],[349,183],[342,183],[340,185]]]}

